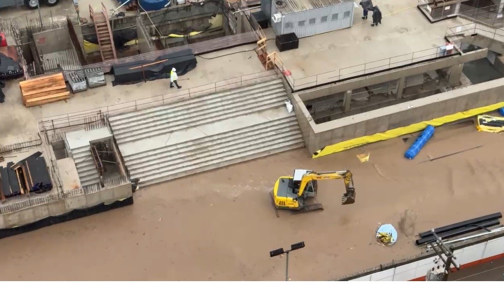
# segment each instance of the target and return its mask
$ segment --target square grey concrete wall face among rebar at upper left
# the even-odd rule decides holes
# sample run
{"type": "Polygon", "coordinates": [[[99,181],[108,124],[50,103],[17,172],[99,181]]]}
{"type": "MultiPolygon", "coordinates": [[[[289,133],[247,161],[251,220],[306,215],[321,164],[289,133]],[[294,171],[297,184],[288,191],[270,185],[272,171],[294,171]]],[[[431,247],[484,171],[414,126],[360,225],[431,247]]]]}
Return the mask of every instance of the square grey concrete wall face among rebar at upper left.
{"type": "Polygon", "coordinates": [[[68,27],[34,33],[33,38],[41,55],[73,48],[68,27]]]}

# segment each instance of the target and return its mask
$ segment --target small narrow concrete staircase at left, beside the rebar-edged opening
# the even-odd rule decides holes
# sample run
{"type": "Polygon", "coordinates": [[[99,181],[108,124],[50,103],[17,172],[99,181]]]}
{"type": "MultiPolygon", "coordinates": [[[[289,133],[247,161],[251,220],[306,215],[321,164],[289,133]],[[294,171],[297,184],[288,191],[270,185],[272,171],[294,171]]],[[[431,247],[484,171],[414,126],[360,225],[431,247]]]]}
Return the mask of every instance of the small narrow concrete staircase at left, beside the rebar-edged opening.
{"type": "Polygon", "coordinates": [[[90,145],[73,149],[72,157],[74,159],[82,187],[100,182],[98,170],[94,165],[93,156],[91,155],[90,145]]]}

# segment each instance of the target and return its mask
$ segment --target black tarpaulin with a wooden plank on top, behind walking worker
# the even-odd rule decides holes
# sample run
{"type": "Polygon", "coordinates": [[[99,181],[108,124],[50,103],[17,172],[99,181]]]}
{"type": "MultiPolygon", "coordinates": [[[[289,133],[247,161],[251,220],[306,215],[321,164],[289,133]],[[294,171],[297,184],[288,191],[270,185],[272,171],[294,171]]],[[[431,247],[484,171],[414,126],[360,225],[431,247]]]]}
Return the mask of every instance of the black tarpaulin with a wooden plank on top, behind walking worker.
{"type": "Polygon", "coordinates": [[[168,53],[155,60],[117,64],[111,68],[114,75],[112,85],[135,84],[170,78],[172,67],[177,70],[178,76],[183,76],[186,72],[194,69],[196,64],[196,56],[192,49],[168,53]]]}

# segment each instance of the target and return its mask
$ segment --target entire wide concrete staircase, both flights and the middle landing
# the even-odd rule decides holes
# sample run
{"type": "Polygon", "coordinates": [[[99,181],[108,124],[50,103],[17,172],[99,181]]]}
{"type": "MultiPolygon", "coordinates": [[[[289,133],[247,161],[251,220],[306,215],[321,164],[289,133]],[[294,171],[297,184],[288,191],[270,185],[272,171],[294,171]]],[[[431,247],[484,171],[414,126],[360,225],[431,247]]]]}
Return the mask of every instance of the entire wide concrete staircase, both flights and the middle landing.
{"type": "Polygon", "coordinates": [[[301,148],[280,79],[110,116],[130,170],[144,185],[301,148]]]}

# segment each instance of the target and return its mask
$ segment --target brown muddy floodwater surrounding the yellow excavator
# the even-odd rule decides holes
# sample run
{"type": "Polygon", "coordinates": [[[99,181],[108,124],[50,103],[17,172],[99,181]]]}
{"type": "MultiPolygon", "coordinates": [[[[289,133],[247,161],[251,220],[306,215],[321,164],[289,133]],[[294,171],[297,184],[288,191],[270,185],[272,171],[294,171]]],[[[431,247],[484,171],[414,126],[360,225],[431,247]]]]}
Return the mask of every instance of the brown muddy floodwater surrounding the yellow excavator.
{"type": "Polygon", "coordinates": [[[397,138],[158,184],[135,193],[132,206],[0,240],[0,279],[283,280],[285,258],[269,251],[299,241],[306,247],[290,256],[292,280],[334,279],[420,253],[414,233],[504,210],[501,138],[452,125],[436,129],[412,161],[403,157],[412,139],[397,138]],[[360,163],[355,155],[367,152],[360,163]],[[295,168],[351,170],[356,203],[340,205],[342,180],[322,181],[324,211],[277,218],[268,193],[295,168]],[[395,245],[376,243],[380,223],[399,230],[395,245]]]}

